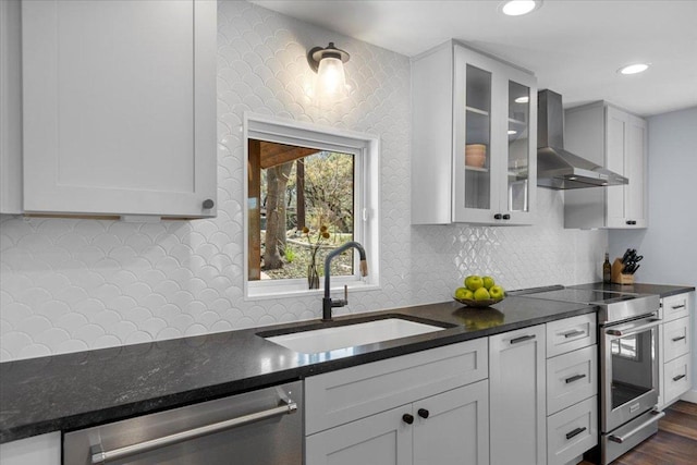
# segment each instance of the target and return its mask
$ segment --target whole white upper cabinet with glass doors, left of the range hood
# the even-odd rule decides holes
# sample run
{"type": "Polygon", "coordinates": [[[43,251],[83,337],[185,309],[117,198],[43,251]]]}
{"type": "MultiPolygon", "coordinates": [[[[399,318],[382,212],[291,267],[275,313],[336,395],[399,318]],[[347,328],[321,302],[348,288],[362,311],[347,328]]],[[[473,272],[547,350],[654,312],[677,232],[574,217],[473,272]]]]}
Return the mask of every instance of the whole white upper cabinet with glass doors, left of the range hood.
{"type": "Polygon", "coordinates": [[[412,223],[531,224],[537,79],[444,44],[412,62],[412,223]]]}

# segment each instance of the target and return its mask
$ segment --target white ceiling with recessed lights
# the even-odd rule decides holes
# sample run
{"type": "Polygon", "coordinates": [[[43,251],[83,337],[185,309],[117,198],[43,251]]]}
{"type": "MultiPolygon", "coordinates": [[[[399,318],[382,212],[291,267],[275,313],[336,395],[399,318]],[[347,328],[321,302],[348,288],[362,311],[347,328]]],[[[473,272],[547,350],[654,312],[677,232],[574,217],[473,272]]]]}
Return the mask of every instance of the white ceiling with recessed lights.
{"type": "Polygon", "coordinates": [[[499,0],[252,2],[409,57],[463,40],[535,72],[564,107],[603,99],[651,115],[697,106],[697,0],[545,0],[517,17],[499,13],[499,0]],[[651,68],[616,73],[634,62],[651,68]]]}

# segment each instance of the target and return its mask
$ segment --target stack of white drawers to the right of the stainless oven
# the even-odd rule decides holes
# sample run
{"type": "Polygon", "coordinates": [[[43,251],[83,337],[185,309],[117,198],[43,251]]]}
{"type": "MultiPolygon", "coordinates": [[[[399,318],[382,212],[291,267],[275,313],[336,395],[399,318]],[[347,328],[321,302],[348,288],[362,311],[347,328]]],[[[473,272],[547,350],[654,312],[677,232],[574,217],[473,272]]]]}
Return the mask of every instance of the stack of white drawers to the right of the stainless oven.
{"type": "Polygon", "coordinates": [[[665,408],[692,388],[692,320],[694,292],[661,298],[659,327],[659,408],[665,408]]]}

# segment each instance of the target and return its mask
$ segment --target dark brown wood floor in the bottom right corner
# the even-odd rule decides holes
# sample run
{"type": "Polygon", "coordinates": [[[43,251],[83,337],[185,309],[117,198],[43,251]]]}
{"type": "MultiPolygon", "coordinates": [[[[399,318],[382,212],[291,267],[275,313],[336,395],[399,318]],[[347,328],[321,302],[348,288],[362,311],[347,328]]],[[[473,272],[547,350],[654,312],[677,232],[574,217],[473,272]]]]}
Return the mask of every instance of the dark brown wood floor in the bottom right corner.
{"type": "MultiPolygon", "coordinates": [[[[665,409],[659,431],[612,465],[696,465],[697,404],[676,402],[665,409]]],[[[582,462],[580,465],[591,465],[582,462]]]]}

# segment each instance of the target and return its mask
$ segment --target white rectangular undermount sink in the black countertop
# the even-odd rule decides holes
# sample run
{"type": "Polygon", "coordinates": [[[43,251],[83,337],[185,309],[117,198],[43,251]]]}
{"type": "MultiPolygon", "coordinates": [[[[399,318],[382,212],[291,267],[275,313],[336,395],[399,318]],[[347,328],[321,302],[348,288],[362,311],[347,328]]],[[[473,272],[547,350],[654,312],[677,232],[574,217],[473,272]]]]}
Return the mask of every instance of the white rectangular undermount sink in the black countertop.
{"type": "Polygon", "coordinates": [[[338,348],[355,347],[428,332],[442,331],[433,325],[402,318],[384,318],[359,323],[335,326],[265,338],[276,344],[303,354],[317,354],[338,348]]]}

